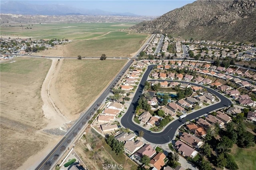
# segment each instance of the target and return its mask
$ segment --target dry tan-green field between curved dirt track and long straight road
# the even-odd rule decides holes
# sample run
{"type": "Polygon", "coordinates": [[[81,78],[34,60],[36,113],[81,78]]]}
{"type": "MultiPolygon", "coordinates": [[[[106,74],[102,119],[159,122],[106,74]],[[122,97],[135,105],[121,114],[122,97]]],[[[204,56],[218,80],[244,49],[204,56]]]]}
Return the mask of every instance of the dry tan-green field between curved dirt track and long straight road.
{"type": "MultiPolygon", "coordinates": [[[[56,80],[56,92],[67,111],[64,115],[77,118],[85,110],[111,79],[124,66],[121,59],[64,59],[56,80]]],[[[58,104],[57,104],[57,107],[58,104]]]]}

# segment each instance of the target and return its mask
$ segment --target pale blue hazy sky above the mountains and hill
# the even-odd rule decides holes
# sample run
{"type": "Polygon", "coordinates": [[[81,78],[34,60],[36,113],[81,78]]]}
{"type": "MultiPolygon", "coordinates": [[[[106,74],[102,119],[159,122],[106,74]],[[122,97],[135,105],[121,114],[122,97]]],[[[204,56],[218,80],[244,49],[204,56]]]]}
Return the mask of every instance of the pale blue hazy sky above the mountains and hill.
{"type": "Polygon", "coordinates": [[[100,9],[108,12],[130,12],[143,16],[161,16],[175,8],[195,0],[33,0],[35,4],[64,4],[89,10],[100,9]]]}

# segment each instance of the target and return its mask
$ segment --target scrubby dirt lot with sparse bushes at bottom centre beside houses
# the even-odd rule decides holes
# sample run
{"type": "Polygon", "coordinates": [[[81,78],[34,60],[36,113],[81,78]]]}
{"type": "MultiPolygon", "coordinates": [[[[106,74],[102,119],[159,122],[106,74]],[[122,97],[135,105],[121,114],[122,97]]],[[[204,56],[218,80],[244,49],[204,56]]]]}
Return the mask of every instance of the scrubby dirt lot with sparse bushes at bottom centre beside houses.
{"type": "Polygon", "coordinates": [[[90,127],[74,149],[90,170],[102,170],[102,164],[118,164],[118,167],[122,164],[124,170],[137,169],[137,165],[124,154],[112,153],[114,151],[106,144],[104,138],[90,127]]]}

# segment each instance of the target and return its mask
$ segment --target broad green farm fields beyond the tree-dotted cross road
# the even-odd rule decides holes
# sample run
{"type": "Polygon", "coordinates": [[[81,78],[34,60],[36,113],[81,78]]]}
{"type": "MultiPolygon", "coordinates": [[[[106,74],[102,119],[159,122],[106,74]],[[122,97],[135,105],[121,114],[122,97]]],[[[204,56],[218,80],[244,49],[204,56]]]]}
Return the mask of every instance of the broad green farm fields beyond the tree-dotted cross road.
{"type": "Polygon", "coordinates": [[[1,27],[1,35],[32,39],[68,39],[64,45],[35,55],[62,57],[132,57],[150,36],[128,30],[137,23],[22,24],[1,27]],[[25,28],[32,29],[25,29],[25,28]]]}

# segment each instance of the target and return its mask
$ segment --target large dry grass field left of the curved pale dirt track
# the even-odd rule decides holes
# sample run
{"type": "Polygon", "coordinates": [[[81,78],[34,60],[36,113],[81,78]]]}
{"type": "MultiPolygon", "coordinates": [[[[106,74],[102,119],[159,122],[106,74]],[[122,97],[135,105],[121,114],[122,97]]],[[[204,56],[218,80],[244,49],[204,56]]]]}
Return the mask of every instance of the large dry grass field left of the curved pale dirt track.
{"type": "Polygon", "coordinates": [[[40,89],[52,63],[48,59],[16,58],[1,63],[1,169],[13,170],[46,146],[36,133],[47,125],[40,89]]]}

